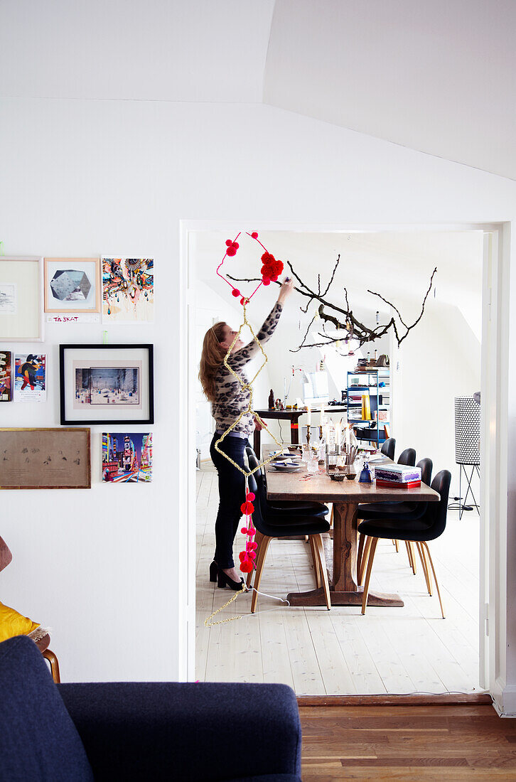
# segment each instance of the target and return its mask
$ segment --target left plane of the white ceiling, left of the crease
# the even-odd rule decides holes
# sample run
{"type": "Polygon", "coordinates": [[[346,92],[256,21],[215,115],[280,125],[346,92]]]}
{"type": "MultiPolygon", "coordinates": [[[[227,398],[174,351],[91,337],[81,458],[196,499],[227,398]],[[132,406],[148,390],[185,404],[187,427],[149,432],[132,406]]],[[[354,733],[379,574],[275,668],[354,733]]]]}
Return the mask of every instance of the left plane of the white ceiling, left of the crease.
{"type": "Polygon", "coordinates": [[[0,95],[261,102],[274,0],[2,0],[0,95]]]}

